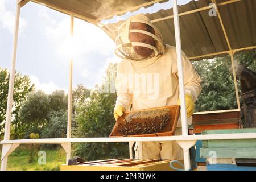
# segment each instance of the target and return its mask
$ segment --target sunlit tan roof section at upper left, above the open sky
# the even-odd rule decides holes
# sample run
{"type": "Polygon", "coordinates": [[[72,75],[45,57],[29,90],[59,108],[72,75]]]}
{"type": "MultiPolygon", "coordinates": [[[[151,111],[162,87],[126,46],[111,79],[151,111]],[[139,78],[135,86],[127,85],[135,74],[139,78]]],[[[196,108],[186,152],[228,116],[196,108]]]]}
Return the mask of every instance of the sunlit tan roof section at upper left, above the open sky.
{"type": "MultiPolygon", "coordinates": [[[[27,0],[24,0],[27,1],[27,0]]],[[[112,18],[114,15],[123,15],[127,11],[136,11],[141,7],[150,7],[156,2],[168,0],[31,0],[44,4],[51,9],[65,14],[73,14],[77,18],[88,22],[100,22],[112,18]]]]}

